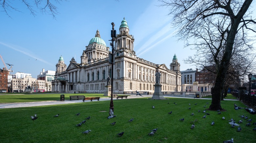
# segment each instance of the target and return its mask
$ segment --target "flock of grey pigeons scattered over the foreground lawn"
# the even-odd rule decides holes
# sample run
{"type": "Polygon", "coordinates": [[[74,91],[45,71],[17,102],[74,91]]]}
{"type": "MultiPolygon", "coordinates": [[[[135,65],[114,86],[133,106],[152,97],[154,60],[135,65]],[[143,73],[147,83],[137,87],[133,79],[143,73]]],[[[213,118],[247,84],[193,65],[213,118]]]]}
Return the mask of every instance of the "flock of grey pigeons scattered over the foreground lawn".
{"type": "MultiPolygon", "coordinates": [[[[168,102],[168,104],[169,104],[169,102],[168,102]]],[[[177,105],[177,103],[175,103],[175,102],[174,102],[174,104],[177,105]]],[[[206,104],[208,104],[208,103],[206,103],[206,104]]],[[[189,103],[189,105],[191,105],[191,104],[189,103]]],[[[197,105],[197,103],[195,103],[194,105],[197,105]]],[[[205,108],[206,105],[204,105],[203,107],[205,108]]],[[[152,105],[152,109],[155,109],[155,106],[154,106],[154,105],[152,105]]],[[[191,107],[189,107],[188,109],[191,109],[191,107]]],[[[240,110],[240,109],[244,109],[244,108],[243,108],[243,107],[239,107],[239,106],[237,106],[237,105],[234,103],[234,109],[235,109],[235,110],[240,110]]],[[[254,110],[251,109],[251,108],[245,108],[245,110],[246,110],[247,112],[249,112],[250,114],[253,114],[253,115],[256,114],[256,111],[254,111],[254,110]]],[[[199,110],[198,112],[200,112],[200,110],[199,110]]],[[[217,114],[219,114],[219,115],[221,114],[220,110],[217,110],[217,112],[218,112],[217,114]]],[[[205,114],[205,115],[202,117],[203,119],[206,118],[206,115],[210,115],[209,113],[206,113],[206,109],[203,110],[203,113],[205,114]]],[[[168,114],[172,114],[172,111],[169,112],[168,114]]],[[[75,114],[75,115],[76,115],[76,116],[79,116],[80,113],[77,113],[77,114],[75,114]]],[[[191,116],[194,116],[194,113],[192,113],[191,116]]],[[[53,116],[53,117],[59,117],[59,114],[57,114],[57,115],[55,115],[55,116],[53,116]]],[[[34,116],[31,116],[31,118],[32,118],[32,120],[35,120],[35,119],[37,119],[38,117],[36,117],[36,114],[35,114],[34,116]]],[[[76,124],[76,126],[80,127],[82,124],[84,124],[84,123],[86,122],[86,119],[89,120],[90,118],[91,118],[90,116],[87,117],[87,118],[85,118],[85,120],[81,121],[79,124],[76,124]]],[[[241,119],[238,121],[239,124],[243,123],[243,119],[245,119],[245,120],[248,122],[245,126],[251,126],[252,119],[248,119],[248,117],[245,116],[245,115],[241,115],[240,118],[241,118],[241,119]]],[[[222,119],[224,120],[225,117],[222,117],[222,119]]],[[[132,122],[133,120],[134,120],[134,119],[132,118],[132,119],[130,119],[130,120],[128,120],[128,121],[129,121],[129,122],[132,122]]],[[[179,119],[179,120],[184,121],[184,118],[179,119]]],[[[197,119],[196,119],[195,121],[197,121],[197,119]]],[[[191,127],[190,127],[191,129],[194,129],[194,128],[195,128],[195,121],[194,121],[193,124],[191,125],[191,127]]],[[[239,126],[238,129],[237,129],[237,132],[241,132],[241,131],[242,131],[242,127],[241,127],[239,124],[237,124],[233,118],[231,118],[231,119],[228,120],[228,121],[229,121],[229,124],[231,125],[232,128],[234,128],[234,127],[236,127],[236,126],[239,126]]],[[[191,123],[192,123],[192,122],[191,122],[191,123]]],[[[115,124],[116,124],[116,122],[111,123],[111,125],[115,125],[115,124]]],[[[212,121],[212,122],[211,122],[211,125],[214,125],[214,124],[215,124],[215,122],[212,121]]],[[[253,124],[253,125],[256,125],[256,122],[254,122],[254,123],[252,123],[252,124],[253,124]]],[[[157,130],[158,130],[158,128],[151,130],[151,132],[148,133],[148,135],[154,135],[154,134],[157,132],[157,130]]],[[[253,130],[256,131],[256,128],[254,128],[253,130]]],[[[90,131],[91,131],[91,130],[86,130],[86,131],[84,131],[84,132],[82,132],[82,133],[83,133],[83,134],[89,134],[90,131]]],[[[121,133],[118,133],[117,135],[118,135],[118,136],[122,136],[123,134],[124,134],[124,132],[121,132],[121,133]]],[[[230,140],[226,140],[226,141],[223,141],[223,142],[224,142],[224,143],[233,143],[233,142],[234,142],[234,139],[231,138],[230,140]]]]}

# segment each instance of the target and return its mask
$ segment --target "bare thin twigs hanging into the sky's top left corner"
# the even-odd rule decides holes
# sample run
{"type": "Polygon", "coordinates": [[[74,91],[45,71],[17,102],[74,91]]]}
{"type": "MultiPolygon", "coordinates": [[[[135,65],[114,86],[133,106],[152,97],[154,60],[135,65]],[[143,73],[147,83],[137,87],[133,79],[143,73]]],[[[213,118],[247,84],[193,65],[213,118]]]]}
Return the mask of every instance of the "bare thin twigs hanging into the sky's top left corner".
{"type": "MultiPolygon", "coordinates": [[[[55,15],[58,14],[57,7],[55,5],[59,4],[62,1],[64,0],[21,0],[16,2],[21,2],[24,6],[26,6],[33,16],[35,16],[37,13],[35,8],[33,8],[33,5],[35,5],[36,8],[40,9],[42,13],[50,14],[55,19],[55,15]]],[[[10,0],[0,0],[0,5],[3,8],[3,10],[1,11],[5,12],[6,15],[8,15],[9,17],[11,17],[9,15],[9,12],[13,10],[21,12],[18,8],[13,7],[13,4],[10,0]]]]}

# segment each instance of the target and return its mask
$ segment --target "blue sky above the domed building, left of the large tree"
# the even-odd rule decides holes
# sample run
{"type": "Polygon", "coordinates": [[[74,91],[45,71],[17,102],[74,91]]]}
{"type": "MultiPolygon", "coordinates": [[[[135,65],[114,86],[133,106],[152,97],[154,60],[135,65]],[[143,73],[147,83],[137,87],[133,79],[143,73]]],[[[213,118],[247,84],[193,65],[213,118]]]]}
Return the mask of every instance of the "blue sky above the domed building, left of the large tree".
{"type": "MultiPolygon", "coordinates": [[[[183,41],[177,41],[175,29],[170,25],[171,17],[167,16],[168,8],[158,7],[157,0],[64,1],[56,5],[59,12],[56,19],[35,6],[38,13],[33,16],[21,1],[12,3],[21,12],[8,11],[11,18],[0,12],[0,54],[5,63],[13,64],[11,74],[20,71],[31,73],[35,78],[42,69],[55,71],[61,55],[67,66],[72,57],[80,62],[85,46],[95,37],[97,29],[110,47],[111,23],[115,23],[119,33],[124,17],[129,34],[134,35],[137,57],[169,68],[176,54],[181,71],[196,68],[183,63],[183,59],[195,52],[183,48],[183,41]]],[[[0,68],[3,67],[1,61],[0,68]]]]}

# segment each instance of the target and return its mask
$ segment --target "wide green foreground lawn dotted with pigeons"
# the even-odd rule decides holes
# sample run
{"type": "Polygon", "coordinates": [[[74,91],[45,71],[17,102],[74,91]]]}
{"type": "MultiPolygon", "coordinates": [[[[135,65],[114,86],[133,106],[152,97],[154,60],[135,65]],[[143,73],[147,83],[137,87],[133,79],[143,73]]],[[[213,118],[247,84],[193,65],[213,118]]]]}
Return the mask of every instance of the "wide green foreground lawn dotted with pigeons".
{"type": "Polygon", "coordinates": [[[242,132],[237,127],[231,128],[228,119],[240,120],[239,116],[247,115],[252,122],[256,116],[244,109],[234,110],[234,103],[245,107],[240,101],[222,101],[221,115],[217,111],[206,111],[210,115],[203,119],[202,111],[209,107],[208,100],[168,98],[167,100],[148,100],[145,98],[125,99],[114,101],[114,113],[117,117],[109,116],[110,101],[59,104],[49,106],[23,107],[0,109],[0,142],[223,142],[234,138],[234,142],[256,142],[254,125],[247,127],[241,123],[242,132]],[[169,104],[167,104],[169,102],[169,104]],[[174,102],[177,105],[173,104],[174,102]],[[191,103],[191,105],[188,105],[191,103]],[[197,103],[197,105],[194,105],[197,103]],[[155,109],[152,109],[152,105],[155,109]],[[206,108],[203,106],[206,105],[206,108]],[[188,109],[191,107],[191,109],[188,109]],[[199,113],[198,110],[201,110],[199,113]],[[104,112],[106,111],[106,112],[104,112]],[[172,114],[167,114],[173,111],[172,114]],[[190,114],[194,112],[194,116],[190,114]],[[80,113],[80,116],[75,114],[80,113]],[[30,116],[37,114],[38,119],[31,120],[30,116]],[[60,114],[59,117],[53,117],[60,114]],[[91,116],[85,124],[76,124],[91,116]],[[226,119],[223,120],[222,117],[226,119]],[[134,118],[133,122],[128,122],[134,118]],[[184,118],[184,121],[179,119],[184,118]],[[195,128],[190,129],[195,122],[195,128]],[[215,125],[211,126],[211,122],[215,125]],[[112,126],[110,123],[116,122],[112,126]],[[158,128],[157,133],[149,136],[150,130],[158,128]],[[83,131],[92,130],[89,134],[83,131]],[[122,137],[116,134],[124,132],[122,137]]]}

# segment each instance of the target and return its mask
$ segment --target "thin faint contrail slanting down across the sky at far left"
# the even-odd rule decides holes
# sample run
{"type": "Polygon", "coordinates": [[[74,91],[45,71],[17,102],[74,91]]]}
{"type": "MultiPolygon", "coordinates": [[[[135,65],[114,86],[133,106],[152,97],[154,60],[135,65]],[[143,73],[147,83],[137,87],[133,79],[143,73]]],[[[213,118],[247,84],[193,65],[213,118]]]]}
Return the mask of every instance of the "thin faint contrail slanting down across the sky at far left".
{"type": "Polygon", "coordinates": [[[13,50],[15,50],[15,51],[18,51],[18,52],[20,52],[20,53],[22,53],[22,54],[24,54],[24,55],[30,56],[30,57],[34,58],[35,60],[38,60],[38,61],[41,61],[41,62],[43,62],[43,63],[46,63],[46,64],[48,64],[48,65],[53,66],[52,63],[49,63],[49,62],[47,62],[47,61],[45,61],[45,60],[43,60],[43,59],[41,59],[41,58],[35,56],[34,53],[28,53],[28,52],[26,52],[26,51],[30,51],[30,50],[28,50],[28,49],[26,49],[26,48],[23,48],[23,47],[20,47],[20,46],[17,46],[17,45],[13,45],[13,46],[12,46],[12,45],[3,43],[3,42],[1,42],[1,41],[0,41],[0,44],[6,46],[6,47],[8,47],[8,48],[11,48],[11,49],[13,49],[13,50]]]}

